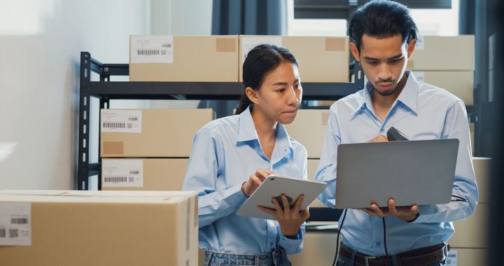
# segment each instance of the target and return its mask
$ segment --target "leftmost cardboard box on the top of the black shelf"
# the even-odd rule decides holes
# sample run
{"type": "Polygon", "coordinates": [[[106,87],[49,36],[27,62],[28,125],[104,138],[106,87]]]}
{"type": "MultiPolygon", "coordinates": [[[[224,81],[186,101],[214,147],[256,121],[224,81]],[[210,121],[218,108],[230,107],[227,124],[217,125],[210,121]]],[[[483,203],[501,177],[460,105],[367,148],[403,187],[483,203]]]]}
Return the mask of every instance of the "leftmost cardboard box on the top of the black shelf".
{"type": "Polygon", "coordinates": [[[130,81],[238,81],[238,36],[130,36],[130,81]]]}

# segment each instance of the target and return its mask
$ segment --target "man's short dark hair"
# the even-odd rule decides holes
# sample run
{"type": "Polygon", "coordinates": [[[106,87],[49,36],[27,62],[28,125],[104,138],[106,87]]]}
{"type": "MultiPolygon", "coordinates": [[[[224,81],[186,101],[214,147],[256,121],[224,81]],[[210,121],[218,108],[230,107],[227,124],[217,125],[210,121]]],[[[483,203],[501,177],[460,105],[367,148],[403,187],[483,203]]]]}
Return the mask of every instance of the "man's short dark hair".
{"type": "Polygon", "coordinates": [[[418,38],[418,28],[407,6],[395,1],[374,0],[356,10],[350,20],[348,34],[360,52],[364,34],[377,38],[401,34],[402,43],[409,43],[418,38]]]}

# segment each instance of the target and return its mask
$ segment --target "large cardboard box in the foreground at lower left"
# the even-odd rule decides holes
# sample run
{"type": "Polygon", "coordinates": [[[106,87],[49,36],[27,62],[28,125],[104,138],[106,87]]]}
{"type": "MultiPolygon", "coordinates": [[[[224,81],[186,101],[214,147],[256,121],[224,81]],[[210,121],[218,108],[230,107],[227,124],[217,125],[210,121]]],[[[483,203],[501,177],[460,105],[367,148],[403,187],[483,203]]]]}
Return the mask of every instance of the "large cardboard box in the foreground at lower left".
{"type": "Polygon", "coordinates": [[[0,246],[2,265],[198,265],[193,192],[4,190],[0,208],[30,242],[0,246]]]}

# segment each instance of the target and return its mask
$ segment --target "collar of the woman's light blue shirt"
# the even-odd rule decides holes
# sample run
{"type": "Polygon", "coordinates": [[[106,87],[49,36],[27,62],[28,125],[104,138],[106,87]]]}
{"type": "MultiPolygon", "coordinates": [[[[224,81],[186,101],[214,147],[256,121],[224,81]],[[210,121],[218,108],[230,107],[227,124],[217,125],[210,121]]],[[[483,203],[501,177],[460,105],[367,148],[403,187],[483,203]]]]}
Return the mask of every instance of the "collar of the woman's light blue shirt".
{"type": "MultiPolygon", "coordinates": [[[[259,137],[257,131],[255,131],[255,125],[253,123],[251,106],[248,106],[245,111],[239,114],[239,132],[238,132],[238,142],[244,141],[258,141],[259,137]]],[[[294,148],[292,142],[290,142],[290,137],[284,125],[276,124],[276,139],[275,146],[281,149],[281,151],[290,151],[290,155],[293,155],[294,148]]]]}

